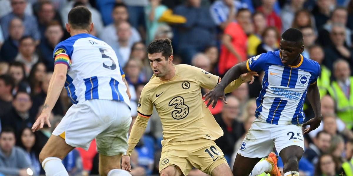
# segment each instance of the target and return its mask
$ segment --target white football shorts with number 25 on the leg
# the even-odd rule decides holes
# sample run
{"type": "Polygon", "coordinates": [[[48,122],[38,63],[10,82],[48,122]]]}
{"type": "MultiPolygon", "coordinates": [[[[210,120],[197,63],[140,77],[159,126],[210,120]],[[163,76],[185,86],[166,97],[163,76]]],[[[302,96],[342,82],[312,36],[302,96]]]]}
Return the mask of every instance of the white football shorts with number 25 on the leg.
{"type": "Polygon", "coordinates": [[[256,118],[240,145],[238,154],[248,158],[263,158],[276,147],[282,149],[297,145],[304,151],[304,139],[299,125],[275,125],[256,118]]]}

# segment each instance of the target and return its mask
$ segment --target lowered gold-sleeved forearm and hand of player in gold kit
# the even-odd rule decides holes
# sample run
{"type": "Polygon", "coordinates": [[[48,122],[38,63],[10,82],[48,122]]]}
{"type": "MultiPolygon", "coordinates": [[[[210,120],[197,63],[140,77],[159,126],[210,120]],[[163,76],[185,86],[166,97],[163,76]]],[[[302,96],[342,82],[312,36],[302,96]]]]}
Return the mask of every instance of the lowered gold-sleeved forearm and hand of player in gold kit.
{"type": "Polygon", "coordinates": [[[122,156],[121,169],[131,172],[130,155],[145,132],[148,120],[149,118],[137,115],[137,118],[131,128],[130,137],[127,140],[128,147],[126,154],[122,156]]]}

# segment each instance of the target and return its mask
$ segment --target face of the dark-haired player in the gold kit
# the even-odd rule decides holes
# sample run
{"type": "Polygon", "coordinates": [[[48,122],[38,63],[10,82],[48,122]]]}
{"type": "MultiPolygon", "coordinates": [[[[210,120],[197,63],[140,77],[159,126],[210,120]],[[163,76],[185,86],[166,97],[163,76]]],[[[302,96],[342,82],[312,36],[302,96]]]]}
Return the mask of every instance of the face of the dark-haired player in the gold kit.
{"type": "Polygon", "coordinates": [[[148,54],[148,60],[150,61],[151,69],[157,77],[163,77],[168,73],[169,64],[172,63],[170,57],[166,60],[166,58],[162,56],[162,52],[148,54]]]}

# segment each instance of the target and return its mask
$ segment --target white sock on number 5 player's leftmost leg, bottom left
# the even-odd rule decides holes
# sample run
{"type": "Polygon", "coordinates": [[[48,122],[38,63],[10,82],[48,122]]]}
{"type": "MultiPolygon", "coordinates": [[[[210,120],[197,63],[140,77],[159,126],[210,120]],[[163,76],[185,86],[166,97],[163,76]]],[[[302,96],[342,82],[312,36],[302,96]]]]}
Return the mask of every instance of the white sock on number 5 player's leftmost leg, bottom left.
{"type": "Polygon", "coordinates": [[[46,176],[68,176],[68,173],[61,163],[60,158],[48,157],[44,159],[42,167],[46,173],[46,176]]]}

